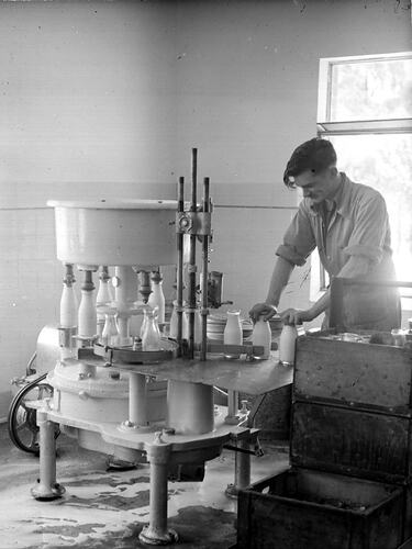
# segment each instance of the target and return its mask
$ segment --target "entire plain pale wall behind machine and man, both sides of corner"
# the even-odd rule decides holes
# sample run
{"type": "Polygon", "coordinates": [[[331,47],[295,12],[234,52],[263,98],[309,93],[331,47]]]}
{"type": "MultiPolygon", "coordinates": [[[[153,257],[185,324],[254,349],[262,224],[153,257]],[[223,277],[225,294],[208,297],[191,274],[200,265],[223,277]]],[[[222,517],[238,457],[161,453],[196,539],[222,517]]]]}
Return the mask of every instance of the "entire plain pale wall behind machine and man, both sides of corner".
{"type": "MultiPolygon", "coordinates": [[[[171,198],[198,147],[215,203],[211,268],[247,314],[296,209],[281,175],[315,134],[319,58],[410,49],[408,4],[1,3],[0,417],[10,379],[58,320],[46,200],[171,198]]],[[[308,273],[282,305],[308,303],[308,273]]]]}

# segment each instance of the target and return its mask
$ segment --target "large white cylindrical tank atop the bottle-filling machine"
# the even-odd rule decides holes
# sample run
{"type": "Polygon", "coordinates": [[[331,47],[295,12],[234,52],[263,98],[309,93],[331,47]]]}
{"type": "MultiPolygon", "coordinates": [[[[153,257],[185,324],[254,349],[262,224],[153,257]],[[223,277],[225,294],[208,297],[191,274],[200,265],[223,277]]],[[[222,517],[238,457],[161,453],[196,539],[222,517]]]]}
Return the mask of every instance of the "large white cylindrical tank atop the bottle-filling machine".
{"type": "Polygon", "coordinates": [[[55,201],[57,257],[86,266],[176,264],[175,200],[55,201]]]}

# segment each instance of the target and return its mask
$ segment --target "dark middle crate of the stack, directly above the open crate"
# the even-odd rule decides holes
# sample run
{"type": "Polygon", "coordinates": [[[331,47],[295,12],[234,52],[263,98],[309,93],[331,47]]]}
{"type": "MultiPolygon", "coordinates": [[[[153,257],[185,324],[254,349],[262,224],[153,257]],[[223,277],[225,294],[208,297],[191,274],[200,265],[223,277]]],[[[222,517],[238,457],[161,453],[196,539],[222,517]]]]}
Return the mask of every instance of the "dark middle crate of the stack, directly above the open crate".
{"type": "Polygon", "coordinates": [[[411,473],[407,417],[294,402],[290,459],[294,466],[403,483],[411,473]]]}

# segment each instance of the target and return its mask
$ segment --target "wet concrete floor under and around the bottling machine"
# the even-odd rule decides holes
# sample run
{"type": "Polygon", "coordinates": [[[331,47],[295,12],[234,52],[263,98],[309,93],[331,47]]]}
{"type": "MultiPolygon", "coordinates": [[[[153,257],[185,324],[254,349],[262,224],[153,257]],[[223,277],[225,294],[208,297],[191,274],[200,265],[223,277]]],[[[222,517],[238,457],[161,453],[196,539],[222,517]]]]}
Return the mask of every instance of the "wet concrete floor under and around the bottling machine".
{"type": "MultiPolygon", "coordinates": [[[[252,481],[275,474],[288,463],[282,444],[261,441],[265,456],[252,458],[252,481]]],[[[107,470],[107,456],[57,439],[57,482],[63,498],[37,502],[30,490],[38,458],[15,448],[0,425],[0,549],[135,549],[148,519],[148,466],[107,470]]],[[[207,463],[203,482],[169,482],[169,526],[180,549],[230,548],[236,542],[236,501],[224,489],[234,480],[233,452],[207,463]]]]}

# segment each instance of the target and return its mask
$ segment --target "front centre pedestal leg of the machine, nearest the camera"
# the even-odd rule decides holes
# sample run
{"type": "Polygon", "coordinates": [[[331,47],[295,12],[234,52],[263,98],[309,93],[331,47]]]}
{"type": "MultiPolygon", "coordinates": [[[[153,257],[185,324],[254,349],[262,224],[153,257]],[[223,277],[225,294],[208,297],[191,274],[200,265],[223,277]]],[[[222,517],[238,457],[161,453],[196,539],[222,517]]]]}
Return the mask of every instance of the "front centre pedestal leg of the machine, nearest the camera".
{"type": "Polygon", "coordinates": [[[149,524],[143,528],[138,539],[143,544],[165,546],[175,544],[178,535],[167,527],[167,477],[170,445],[165,444],[160,433],[147,450],[151,462],[151,507],[149,524]]]}

